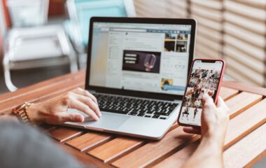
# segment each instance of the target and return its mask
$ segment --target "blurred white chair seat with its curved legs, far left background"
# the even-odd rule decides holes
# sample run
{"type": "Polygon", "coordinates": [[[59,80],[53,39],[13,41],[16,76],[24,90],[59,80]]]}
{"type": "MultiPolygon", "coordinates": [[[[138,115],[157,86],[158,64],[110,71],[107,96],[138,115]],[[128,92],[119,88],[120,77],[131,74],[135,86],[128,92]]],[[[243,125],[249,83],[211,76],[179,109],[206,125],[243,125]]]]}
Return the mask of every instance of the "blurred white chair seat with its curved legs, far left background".
{"type": "Polygon", "coordinates": [[[78,71],[76,53],[58,25],[15,28],[8,32],[3,56],[3,71],[8,90],[15,91],[10,70],[70,64],[78,71]]]}

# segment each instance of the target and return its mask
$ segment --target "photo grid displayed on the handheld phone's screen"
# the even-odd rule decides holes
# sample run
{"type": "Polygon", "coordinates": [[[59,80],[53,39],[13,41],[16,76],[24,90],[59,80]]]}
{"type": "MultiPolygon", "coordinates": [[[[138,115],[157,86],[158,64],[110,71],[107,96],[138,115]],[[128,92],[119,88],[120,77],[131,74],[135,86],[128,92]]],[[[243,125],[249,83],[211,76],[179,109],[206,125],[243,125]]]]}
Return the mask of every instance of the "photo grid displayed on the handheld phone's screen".
{"type": "Polygon", "coordinates": [[[200,125],[202,116],[202,95],[209,94],[214,99],[221,71],[213,69],[193,69],[183,100],[180,121],[200,125]]]}

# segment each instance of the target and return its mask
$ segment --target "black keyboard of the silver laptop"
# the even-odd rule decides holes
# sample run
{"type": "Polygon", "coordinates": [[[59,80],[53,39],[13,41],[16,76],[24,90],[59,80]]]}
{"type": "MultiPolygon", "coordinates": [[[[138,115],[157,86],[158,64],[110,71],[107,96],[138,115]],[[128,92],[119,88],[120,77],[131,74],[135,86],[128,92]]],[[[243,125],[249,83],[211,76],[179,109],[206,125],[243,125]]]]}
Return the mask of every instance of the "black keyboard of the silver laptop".
{"type": "Polygon", "coordinates": [[[179,104],[150,99],[94,94],[99,109],[110,113],[166,120],[179,104]]]}

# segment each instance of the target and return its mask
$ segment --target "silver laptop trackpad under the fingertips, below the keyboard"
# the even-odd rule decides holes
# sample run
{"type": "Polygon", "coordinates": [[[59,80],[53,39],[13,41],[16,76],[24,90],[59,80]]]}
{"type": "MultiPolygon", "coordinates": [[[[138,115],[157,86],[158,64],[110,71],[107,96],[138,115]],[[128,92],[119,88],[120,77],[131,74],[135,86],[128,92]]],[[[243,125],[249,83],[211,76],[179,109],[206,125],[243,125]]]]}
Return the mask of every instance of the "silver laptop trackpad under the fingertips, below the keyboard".
{"type": "Polygon", "coordinates": [[[104,129],[117,129],[120,125],[123,125],[126,120],[130,117],[120,116],[110,113],[102,113],[102,117],[98,121],[92,120],[92,118],[85,118],[86,126],[88,127],[99,127],[104,129]]]}

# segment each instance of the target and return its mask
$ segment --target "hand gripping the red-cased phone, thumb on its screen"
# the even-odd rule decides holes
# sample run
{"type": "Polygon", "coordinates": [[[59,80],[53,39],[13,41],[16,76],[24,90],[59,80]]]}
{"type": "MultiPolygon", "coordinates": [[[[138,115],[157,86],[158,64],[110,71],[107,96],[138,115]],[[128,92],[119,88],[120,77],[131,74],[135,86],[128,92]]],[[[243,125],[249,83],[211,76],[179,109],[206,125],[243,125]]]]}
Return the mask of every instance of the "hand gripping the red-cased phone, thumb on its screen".
{"type": "Polygon", "coordinates": [[[184,127],[183,131],[190,134],[202,134],[202,137],[215,138],[223,143],[229,121],[228,106],[221,97],[218,97],[217,106],[208,94],[202,96],[202,127],[184,127]]]}

